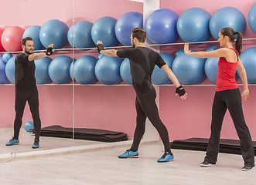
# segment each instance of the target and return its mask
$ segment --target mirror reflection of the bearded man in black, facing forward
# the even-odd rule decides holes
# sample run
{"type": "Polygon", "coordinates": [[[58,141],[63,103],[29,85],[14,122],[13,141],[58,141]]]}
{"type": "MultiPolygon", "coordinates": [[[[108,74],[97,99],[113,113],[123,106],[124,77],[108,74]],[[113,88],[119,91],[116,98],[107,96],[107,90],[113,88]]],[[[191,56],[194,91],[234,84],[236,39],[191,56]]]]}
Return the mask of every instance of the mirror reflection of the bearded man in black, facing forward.
{"type": "Polygon", "coordinates": [[[29,103],[30,112],[35,129],[35,140],[32,148],[39,148],[39,136],[41,131],[41,120],[39,118],[39,99],[36,87],[35,62],[47,55],[53,54],[53,44],[48,46],[46,53],[33,53],[34,44],[31,37],[22,39],[23,52],[15,57],[15,121],[14,136],[6,146],[19,144],[19,130],[22,126],[22,116],[29,103]]]}

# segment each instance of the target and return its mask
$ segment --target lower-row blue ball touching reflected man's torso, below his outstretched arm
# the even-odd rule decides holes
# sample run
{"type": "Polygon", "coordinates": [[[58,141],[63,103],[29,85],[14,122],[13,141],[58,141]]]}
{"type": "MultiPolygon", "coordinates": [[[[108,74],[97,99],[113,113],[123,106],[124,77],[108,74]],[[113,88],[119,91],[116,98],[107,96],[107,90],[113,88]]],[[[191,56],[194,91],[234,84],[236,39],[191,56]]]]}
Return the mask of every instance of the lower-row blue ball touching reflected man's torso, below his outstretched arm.
{"type": "Polygon", "coordinates": [[[52,80],[49,78],[49,64],[52,61],[51,58],[45,57],[43,59],[35,60],[36,71],[36,84],[51,83],[52,80]]]}

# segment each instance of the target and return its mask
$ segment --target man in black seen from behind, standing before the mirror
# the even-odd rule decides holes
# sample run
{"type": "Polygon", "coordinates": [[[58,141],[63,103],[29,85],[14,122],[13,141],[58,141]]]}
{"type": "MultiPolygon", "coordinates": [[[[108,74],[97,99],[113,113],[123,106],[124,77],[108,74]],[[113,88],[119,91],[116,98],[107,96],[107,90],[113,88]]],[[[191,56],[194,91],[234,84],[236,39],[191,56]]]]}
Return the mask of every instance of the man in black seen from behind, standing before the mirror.
{"type": "Polygon", "coordinates": [[[135,107],[137,112],[136,129],[131,149],[119,155],[119,158],[138,157],[138,145],[145,133],[145,120],[148,117],[155,129],[158,131],[162,143],[165,147],[165,153],[159,158],[158,162],[168,162],[173,160],[171,147],[169,144],[169,135],[166,126],[159,117],[159,110],[155,104],[155,88],[152,86],[151,76],[155,65],[159,66],[176,86],[176,95],[181,99],[186,99],[186,92],[183,86],[180,86],[178,79],[174,75],[166,62],[159,53],[148,49],[145,46],[146,33],[143,29],[135,28],[131,31],[132,49],[105,50],[102,42],[97,42],[97,49],[103,55],[128,58],[131,66],[132,85],[136,92],[135,107]]]}

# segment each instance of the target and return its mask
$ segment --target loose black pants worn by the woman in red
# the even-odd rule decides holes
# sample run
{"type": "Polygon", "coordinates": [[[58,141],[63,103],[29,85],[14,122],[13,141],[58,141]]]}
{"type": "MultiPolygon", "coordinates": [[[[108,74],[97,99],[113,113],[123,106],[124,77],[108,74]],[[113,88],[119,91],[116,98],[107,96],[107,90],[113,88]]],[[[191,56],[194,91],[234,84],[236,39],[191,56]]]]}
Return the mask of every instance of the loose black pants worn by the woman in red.
{"type": "Polygon", "coordinates": [[[217,162],[220,147],[220,130],[227,109],[233,119],[237,135],[241,142],[241,153],[244,163],[254,164],[254,146],[251,140],[251,134],[244,121],[241,93],[238,88],[215,93],[210,140],[207,146],[207,156],[205,160],[209,163],[217,162]]]}

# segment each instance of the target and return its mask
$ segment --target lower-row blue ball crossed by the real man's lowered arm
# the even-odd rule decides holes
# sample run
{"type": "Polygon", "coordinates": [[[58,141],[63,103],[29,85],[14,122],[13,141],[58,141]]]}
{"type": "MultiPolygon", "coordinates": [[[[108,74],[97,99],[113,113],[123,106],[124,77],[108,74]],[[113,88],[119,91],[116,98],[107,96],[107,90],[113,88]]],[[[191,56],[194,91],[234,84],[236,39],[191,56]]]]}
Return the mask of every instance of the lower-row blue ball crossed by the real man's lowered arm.
{"type": "MultiPolygon", "coordinates": [[[[159,55],[161,55],[162,59],[166,62],[167,66],[169,66],[169,68],[172,69],[172,62],[174,60],[174,57],[166,52],[159,52],[159,55]]],[[[156,85],[172,84],[172,81],[166,75],[166,72],[162,71],[162,69],[160,69],[159,66],[155,66],[155,69],[152,72],[152,83],[156,85]]]]}

